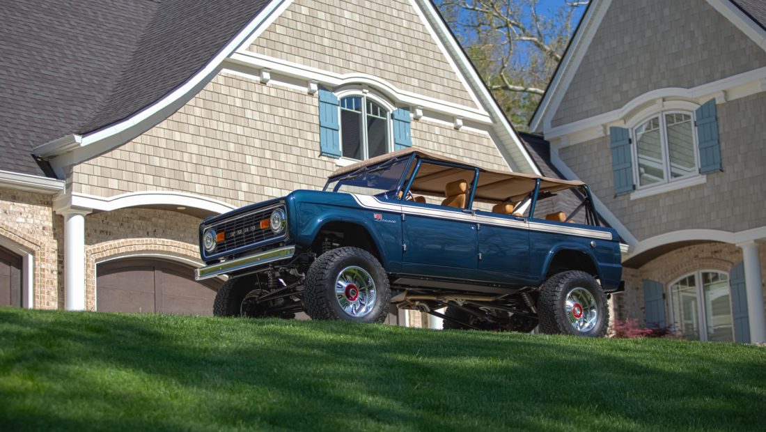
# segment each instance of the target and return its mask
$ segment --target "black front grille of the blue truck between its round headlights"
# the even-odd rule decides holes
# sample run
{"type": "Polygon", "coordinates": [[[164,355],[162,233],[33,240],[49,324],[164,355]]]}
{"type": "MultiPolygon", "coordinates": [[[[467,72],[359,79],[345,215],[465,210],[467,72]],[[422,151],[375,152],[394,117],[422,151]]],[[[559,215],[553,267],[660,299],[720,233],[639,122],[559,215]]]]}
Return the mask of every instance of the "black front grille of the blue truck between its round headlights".
{"type": "Polygon", "coordinates": [[[215,232],[220,235],[224,233],[224,240],[218,241],[215,250],[211,254],[224,254],[231,250],[237,250],[241,247],[257,244],[272,238],[282,237],[284,233],[274,234],[270,226],[260,227],[261,221],[268,221],[271,212],[277,208],[283,208],[283,205],[273,205],[267,208],[261,208],[256,211],[250,211],[235,218],[221,221],[213,224],[215,232]]]}

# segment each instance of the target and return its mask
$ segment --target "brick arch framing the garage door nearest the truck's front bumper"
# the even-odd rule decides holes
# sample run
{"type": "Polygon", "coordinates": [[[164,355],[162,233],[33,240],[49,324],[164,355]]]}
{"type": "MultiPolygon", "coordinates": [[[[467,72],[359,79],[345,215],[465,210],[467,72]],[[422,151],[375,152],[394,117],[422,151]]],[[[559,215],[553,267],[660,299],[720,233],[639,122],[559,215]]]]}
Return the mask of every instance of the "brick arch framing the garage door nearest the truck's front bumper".
{"type": "Polygon", "coordinates": [[[96,309],[96,267],[109,258],[157,257],[185,263],[198,263],[199,247],[182,241],[164,238],[125,238],[93,244],[85,250],[85,307],[96,309]]]}

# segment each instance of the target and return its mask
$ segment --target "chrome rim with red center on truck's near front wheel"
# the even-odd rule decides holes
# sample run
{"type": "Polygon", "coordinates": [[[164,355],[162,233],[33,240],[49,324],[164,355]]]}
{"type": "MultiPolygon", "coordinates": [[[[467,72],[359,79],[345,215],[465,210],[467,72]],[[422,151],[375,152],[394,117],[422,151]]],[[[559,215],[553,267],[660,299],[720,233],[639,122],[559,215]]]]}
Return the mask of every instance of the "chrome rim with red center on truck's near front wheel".
{"type": "Polygon", "coordinates": [[[375,281],[362,267],[345,267],[336,279],[336,299],[349,316],[361,318],[375,307],[375,281]]]}

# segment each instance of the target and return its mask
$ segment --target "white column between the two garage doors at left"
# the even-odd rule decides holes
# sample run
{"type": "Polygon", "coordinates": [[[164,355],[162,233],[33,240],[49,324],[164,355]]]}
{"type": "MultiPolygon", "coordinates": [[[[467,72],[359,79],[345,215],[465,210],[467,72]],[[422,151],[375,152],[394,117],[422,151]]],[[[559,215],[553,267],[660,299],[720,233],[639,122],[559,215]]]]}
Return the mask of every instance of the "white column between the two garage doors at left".
{"type": "Polygon", "coordinates": [[[64,214],[64,309],[85,310],[85,215],[67,208],[64,214]]]}

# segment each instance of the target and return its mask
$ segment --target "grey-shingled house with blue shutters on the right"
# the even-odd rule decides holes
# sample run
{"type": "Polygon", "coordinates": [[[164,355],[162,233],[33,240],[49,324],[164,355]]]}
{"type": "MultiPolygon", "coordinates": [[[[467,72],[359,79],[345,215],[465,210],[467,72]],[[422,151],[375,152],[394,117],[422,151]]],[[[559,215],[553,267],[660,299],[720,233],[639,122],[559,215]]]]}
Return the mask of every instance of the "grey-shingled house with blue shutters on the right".
{"type": "Polygon", "coordinates": [[[612,315],[766,342],[766,4],[592,0],[530,123],[624,247],[612,315]]]}

